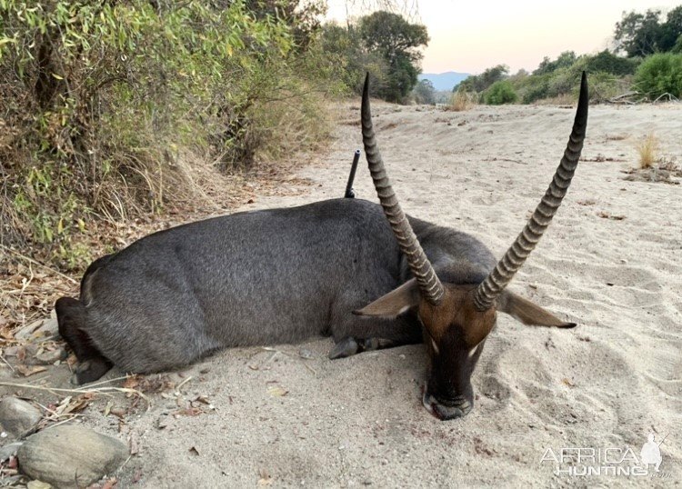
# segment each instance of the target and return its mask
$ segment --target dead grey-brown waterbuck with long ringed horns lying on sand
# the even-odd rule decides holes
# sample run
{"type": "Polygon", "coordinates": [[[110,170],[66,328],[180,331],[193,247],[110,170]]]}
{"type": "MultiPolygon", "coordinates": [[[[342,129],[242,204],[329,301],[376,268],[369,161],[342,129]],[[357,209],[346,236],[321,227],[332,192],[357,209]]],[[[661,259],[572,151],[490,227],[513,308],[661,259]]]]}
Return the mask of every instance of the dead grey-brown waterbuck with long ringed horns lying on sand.
{"type": "Polygon", "coordinates": [[[96,260],[79,299],[55,304],[59,332],[79,362],[76,383],[113,364],[157,372],[228,346],[317,334],[334,337],[331,358],[425,341],[424,405],[451,419],[472,408],[470,378],[496,311],[524,324],[575,326],[505,287],[575,172],[587,125],[585,75],[553,182],[498,264],[473,236],[403,214],[376,149],[367,86],[362,133],[381,205],[344,198],[226,215],[148,235],[96,260]]]}

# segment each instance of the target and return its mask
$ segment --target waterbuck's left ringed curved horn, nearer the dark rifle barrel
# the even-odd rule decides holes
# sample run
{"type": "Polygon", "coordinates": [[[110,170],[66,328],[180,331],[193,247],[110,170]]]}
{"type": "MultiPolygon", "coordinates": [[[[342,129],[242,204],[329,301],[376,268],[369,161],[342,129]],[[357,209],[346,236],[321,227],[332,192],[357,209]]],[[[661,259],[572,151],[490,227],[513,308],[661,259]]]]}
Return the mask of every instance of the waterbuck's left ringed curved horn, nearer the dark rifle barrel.
{"type": "Polygon", "coordinates": [[[416,239],[412,226],[407,221],[405,213],[398,204],[396,193],[388,181],[384,161],[381,159],[379,149],[376,147],[374,127],[372,126],[372,113],[369,108],[369,74],[365,78],[365,87],[362,92],[362,142],[365,145],[365,155],[369,172],[372,174],[376,194],[379,202],[384,207],[386,219],[396,235],[400,250],[406,255],[407,263],[415,275],[419,290],[426,300],[438,305],[443,300],[443,284],[440,283],[434,267],[426,258],[426,253],[416,239]]]}

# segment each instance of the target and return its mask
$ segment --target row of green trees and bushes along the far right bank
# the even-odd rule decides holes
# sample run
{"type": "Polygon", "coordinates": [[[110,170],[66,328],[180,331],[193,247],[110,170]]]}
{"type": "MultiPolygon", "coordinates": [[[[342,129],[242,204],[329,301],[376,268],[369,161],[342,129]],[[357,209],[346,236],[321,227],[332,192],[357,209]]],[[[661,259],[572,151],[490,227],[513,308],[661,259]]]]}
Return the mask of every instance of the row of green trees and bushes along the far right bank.
{"type": "Polygon", "coordinates": [[[476,94],[484,104],[573,100],[577,80],[587,71],[593,102],[630,92],[648,100],[664,94],[682,96],[682,5],[670,10],[665,21],[658,10],[624,12],[616,24],[614,40],[615,53],[604,50],[597,55],[577,55],[566,51],[555,59],[546,56],[532,74],[520,70],[510,75],[506,65],[492,66],[481,75],[469,76],[453,92],[476,94]]]}

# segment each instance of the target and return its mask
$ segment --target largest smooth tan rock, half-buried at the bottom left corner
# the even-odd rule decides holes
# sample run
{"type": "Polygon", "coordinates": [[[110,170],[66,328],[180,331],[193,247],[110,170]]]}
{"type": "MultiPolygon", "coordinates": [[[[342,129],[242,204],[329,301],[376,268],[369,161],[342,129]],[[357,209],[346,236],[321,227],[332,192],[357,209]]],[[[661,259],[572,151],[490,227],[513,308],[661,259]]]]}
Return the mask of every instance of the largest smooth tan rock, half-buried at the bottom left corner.
{"type": "Polygon", "coordinates": [[[119,440],[78,425],[48,428],[19,448],[19,469],[55,487],[85,487],[125,462],[128,449],[119,440]]]}

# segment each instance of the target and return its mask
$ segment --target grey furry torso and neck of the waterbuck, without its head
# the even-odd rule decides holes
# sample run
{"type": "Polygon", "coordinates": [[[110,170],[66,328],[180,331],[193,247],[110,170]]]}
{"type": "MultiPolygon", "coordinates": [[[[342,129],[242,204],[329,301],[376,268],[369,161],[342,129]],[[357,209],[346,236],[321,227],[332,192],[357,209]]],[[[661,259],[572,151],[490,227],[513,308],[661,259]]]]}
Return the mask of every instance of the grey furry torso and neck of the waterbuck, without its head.
{"type": "MultiPolygon", "coordinates": [[[[476,238],[409,220],[443,282],[478,284],[495,266],[476,238]]],[[[136,373],[318,334],[416,343],[416,314],[352,314],[409,278],[379,205],[335,199],[226,215],[148,235],[91,264],[80,329],[136,373]]]]}

